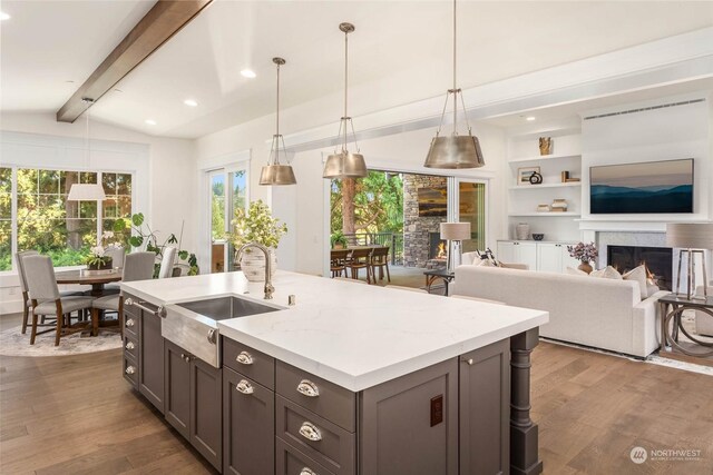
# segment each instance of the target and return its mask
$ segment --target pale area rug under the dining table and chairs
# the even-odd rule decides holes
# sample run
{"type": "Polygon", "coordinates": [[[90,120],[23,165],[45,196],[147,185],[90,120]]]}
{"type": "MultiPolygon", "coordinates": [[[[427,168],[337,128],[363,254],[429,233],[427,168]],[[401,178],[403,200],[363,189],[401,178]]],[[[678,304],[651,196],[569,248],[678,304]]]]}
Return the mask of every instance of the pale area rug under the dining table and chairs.
{"type": "Polygon", "coordinates": [[[59,346],[55,346],[55,333],[38,335],[35,345],[30,345],[30,329],[22,335],[20,327],[0,331],[0,355],[2,356],[62,356],[82,353],[106,352],[121,348],[121,336],[118,333],[99,331],[96,337],[81,333],[64,336],[59,346]]]}

